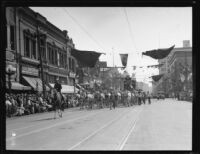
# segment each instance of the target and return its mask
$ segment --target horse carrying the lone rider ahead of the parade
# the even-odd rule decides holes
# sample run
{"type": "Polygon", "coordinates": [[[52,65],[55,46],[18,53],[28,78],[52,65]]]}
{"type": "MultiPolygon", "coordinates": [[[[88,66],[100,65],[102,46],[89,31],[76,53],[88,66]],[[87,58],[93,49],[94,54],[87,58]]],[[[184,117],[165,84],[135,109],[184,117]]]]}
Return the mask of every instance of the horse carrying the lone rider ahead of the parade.
{"type": "Polygon", "coordinates": [[[54,119],[56,119],[56,110],[58,110],[58,115],[59,117],[62,118],[62,111],[64,111],[63,108],[63,97],[62,95],[57,92],[56,89],[51,89],[51,99],[52,99],[52,103],[53,103],[53,108],[55,110],[54,112],[54,119]]]}

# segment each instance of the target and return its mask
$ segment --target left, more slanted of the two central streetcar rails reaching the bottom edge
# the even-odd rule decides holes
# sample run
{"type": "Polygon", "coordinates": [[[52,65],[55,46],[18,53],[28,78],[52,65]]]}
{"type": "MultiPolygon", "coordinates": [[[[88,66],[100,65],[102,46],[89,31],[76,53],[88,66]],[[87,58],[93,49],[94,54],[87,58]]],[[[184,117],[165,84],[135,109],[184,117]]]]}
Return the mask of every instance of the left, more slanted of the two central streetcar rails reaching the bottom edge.
{"type": "MultiPolygon", "coordinates": [[[[135,107],[134,107],[135,108],[135,107]]],[[[132,112],[133,110],[130,110],[128,113],[132,112]]],[[[127,114],[124,115],[124,113],[126,113],[127,111],[123,112],[120,116],[118,116],[117,118],[109,121],[108,123],[106,123],[104,126],[100,127],[99,129],[97,129],[96,131],[94,131],[92,134],[90,134],[89,136],[85,137],[83,140],[81,140],[80,142],[76,143],[75,145],[71,146],[70,148],[68,148],[67,150],[72,150],[76,147],[78,147],[79,145],[83,144],[84,142],[86,142],[89,138],[95,136],[97,133],[99,133],[101,130],[107,128],[108,126],[110,126],[111,124],[113,124],[115,121],[123,118],[123,117],[126,117],[127,114]]]]}

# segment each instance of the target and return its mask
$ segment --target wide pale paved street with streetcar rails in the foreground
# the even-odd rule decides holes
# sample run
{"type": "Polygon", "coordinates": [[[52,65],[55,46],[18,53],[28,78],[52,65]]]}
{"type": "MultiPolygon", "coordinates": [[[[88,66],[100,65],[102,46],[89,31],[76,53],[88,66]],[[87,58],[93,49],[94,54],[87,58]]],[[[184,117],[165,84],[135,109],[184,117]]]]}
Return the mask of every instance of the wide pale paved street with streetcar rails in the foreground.
{"type": "Polygon", "coordinates": [[[7,119],[7,150],[191,150],[192,103],[65,110],[7,119]],[[13,134],[13,135],[12,135],[13,134]]]}

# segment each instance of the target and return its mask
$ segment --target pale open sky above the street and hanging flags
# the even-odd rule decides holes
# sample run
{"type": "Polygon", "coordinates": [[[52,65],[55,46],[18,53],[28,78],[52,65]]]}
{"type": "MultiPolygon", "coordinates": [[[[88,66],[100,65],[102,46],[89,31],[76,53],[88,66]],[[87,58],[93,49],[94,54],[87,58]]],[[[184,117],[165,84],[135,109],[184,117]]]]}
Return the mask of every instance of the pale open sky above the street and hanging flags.
{"type": "Polygon", "coordinates": [[[128,53],[126,71],[151,85],[158,69],[132,66],[158,64],[142,52],[172,45],[192,44],[191,7],[30,7],[61,30],[67,30],[75,48],[106,53],[108,66],[122,66],[120,53],[128,53]]]}

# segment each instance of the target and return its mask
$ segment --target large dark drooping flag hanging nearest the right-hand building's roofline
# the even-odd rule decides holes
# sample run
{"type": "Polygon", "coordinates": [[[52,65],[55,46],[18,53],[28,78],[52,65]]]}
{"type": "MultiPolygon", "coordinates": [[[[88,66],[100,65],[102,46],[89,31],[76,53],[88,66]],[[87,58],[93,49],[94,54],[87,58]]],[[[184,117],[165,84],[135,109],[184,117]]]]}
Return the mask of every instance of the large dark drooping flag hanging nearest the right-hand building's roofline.
{"type": "Polygon", "coordinates": [[[174,47],[175,45],[167,49],[149,50],[146,52],[142,52],[142,55],[146,55],[154,59],[163,59],[169,55],[169,53],[173,50],[174,47]]]}

